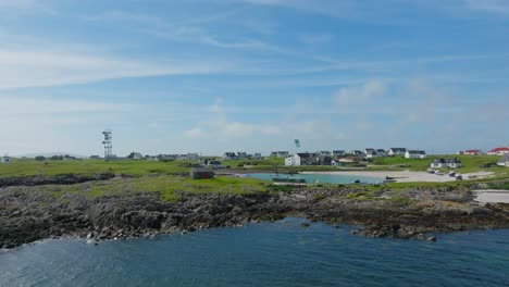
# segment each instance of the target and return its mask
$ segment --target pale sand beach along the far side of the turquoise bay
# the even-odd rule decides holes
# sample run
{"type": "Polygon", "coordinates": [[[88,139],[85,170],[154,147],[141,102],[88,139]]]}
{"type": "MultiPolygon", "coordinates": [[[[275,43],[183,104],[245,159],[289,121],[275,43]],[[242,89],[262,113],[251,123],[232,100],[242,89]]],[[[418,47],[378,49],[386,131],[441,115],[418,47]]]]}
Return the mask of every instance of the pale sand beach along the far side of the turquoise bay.
{"type": "MultiPolygon", "coordinates": [[[[456,177],[448,175],[436,175],[426,172],[371,172],[371,171],[337,171],[337,172],[302,172],[302,174],[338,174],[338,175],[357,175],[357,176],[371,176],[385,179],[386,176],[393,177],[398,183],[447,183],[456,180],[456,177]]],[[[491,172],[479,172],[471,174],[461,174],[463,179],[472,177],[483,178],[493,175],[491,172]]]]}

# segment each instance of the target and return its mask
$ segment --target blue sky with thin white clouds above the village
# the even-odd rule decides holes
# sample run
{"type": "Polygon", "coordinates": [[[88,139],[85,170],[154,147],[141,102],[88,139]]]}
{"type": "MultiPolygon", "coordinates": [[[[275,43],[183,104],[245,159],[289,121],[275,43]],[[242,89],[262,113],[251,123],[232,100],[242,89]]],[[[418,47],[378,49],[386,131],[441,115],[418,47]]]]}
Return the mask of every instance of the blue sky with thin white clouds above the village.
{"type": "Polygon", "coordinates": [[[0,0],[0,152],[509,145],[506,0],[0,0]]]}

